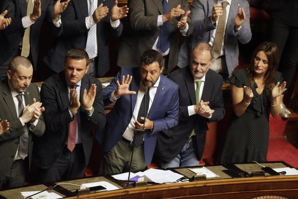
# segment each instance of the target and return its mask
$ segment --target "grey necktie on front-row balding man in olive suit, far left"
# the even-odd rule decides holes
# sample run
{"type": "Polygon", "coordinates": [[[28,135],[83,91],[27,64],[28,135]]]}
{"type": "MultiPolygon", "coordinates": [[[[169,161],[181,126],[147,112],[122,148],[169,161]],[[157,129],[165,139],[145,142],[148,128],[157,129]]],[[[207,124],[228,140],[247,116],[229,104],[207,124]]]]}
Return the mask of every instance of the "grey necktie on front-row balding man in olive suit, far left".
{"type": "MultiPolygon", "coordinates": [[[[22,94],[17,95],[16,98],[19,101],[18,112],[19,112],[19,118],[20,118],[22,116],[23,110],[24,110],[22,94]]],[[[19,140],[20,140],[19,156],[20,156],[20,158],[22,158],[24,160],[27,155],[27,150],[28,150],[28,132],[23,133],[19,137],[19,140]]]]}

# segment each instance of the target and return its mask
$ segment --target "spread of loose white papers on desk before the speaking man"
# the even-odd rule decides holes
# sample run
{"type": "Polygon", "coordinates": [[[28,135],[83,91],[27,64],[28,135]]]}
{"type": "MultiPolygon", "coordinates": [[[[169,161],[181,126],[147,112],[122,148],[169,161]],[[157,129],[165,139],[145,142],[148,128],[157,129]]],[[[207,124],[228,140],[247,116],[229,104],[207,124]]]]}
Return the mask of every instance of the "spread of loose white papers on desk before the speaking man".
{"type": "MultiPolygon", "coordinates": [[[[127,180],[128,173],[112,175],[112,177],[117,180],[127,180]]],[[[138,172],[136,174],[130,173],[129,180],[138,181],[138,178],[144,178],[144,180],[147,180],[149,182],[173,183],[182,177],[183,175],[174,173],[173,171],[170,171],[170,170],[148,169],[144,172],[138,172]]]]}

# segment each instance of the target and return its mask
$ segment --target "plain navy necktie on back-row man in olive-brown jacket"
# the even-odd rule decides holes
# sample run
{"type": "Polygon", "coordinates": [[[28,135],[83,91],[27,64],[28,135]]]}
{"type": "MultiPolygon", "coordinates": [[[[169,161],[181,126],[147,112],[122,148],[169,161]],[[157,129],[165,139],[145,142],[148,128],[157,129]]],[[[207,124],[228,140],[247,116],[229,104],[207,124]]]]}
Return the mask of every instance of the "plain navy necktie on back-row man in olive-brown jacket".
{"type": "MultiPolygon", "coordinates": [[[[166,0],[162,0],[162,7],[164,14],[169,12],[169,5],[166,0]]],[[[157,47],[159,47],[163,52],[167,51],[170,47],[170,22],[166,21],[160,30],[158,41],[157,41],[157,47]]]]}

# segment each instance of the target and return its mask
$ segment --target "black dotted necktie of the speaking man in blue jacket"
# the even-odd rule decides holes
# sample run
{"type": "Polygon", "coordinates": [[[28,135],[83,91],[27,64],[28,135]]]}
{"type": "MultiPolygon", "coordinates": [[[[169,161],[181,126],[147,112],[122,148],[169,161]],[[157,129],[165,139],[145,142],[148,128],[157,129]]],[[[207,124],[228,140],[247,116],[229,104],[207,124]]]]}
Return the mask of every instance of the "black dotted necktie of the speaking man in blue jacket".
{"type": "MultiPolygon", "coordinates": [[[[146,96],[146,118],[147,118],[147,114],[148,114],[148,109],[149,109],[149,101],[150,101],[150,95],[149,95],[149,88],[148,88],[148,92],[147,92],[147,96],[146,96]]],[[[144,123],[144,120],[141,119],[141,117],[145,117],[145,94],[143,96],[142,102],[141,102],[141,106],[140,106],[140,110],[138,113],[138,118],[137,121],[141,124],[144,123]]],[[[134,146],[138,147],[143,143],[144,140],[144,133],[143,132],[135,132],[135,138],[134,138],[134,146]]]]}

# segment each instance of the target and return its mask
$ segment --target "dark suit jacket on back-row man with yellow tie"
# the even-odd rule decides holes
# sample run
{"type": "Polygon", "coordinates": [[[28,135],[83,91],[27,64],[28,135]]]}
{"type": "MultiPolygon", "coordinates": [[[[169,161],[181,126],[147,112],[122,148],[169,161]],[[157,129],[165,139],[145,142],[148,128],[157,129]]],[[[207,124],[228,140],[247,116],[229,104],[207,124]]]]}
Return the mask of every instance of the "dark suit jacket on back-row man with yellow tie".
{"type": "MultiPolygon", "coordinates": [[[[56,27],[53,20],[54,1],[41,1],[41,16],[34,21],[30,29],[30,51],[32,54],[33,65],[36,69],[38,58],[39,35],[41,25],[44,22],[50,28],[52,35],[59,36],[62,33],[62,25],[56,27]]],[[[7,10],[5,18],[11,17],[11,24],[1,31],[0,39],[0,64],[9,59],[12,53],[17,50],[20,42],[23,40],[25,28],[22,25],[22,17],[27,15],[26,0],[2,0],[0,4],[0,12],[7,10]]]]}

